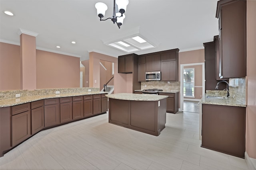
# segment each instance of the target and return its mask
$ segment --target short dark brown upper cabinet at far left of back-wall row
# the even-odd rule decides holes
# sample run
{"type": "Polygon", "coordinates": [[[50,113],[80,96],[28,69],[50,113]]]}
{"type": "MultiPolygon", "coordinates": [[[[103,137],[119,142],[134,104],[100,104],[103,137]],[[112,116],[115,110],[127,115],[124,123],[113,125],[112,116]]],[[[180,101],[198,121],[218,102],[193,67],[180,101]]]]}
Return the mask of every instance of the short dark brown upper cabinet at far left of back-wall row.
{"type": "Polygon", "coordinates": [[[133,57],[133,54],[118,57],[118,73],[132,73],[133,57]]]}

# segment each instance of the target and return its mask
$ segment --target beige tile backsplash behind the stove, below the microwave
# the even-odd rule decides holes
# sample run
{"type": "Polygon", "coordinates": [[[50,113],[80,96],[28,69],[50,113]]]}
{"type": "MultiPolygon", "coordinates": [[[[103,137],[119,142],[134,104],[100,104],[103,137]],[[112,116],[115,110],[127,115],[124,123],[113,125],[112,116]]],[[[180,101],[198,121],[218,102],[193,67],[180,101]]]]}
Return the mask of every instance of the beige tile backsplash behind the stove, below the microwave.
{"type": "Polygon", "coordinates": [[[168,82],[168,81],[147,81],[141,82],[141,90],[158,88],[164,91],[168,90],[180,90],[180,82],[168,82]],[[146,86],[146,87],[145,87],[146,86]]]}

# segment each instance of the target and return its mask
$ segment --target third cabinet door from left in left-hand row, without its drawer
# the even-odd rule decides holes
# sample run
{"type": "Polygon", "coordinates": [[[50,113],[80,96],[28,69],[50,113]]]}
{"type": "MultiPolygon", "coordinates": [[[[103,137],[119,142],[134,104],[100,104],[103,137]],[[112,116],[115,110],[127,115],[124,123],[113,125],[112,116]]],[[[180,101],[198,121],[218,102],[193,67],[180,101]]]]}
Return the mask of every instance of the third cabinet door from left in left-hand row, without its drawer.
{"type": "Polygon", "coordinates": [[[60,104],[44,106],[44,127],[60,124],[60,104]]]}

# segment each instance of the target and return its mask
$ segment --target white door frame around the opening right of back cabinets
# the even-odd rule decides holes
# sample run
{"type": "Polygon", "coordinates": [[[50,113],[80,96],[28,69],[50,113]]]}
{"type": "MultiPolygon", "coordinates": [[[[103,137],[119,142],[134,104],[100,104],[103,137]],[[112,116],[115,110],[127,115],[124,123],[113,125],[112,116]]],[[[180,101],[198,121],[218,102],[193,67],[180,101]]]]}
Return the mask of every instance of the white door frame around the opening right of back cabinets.
{"type": "Polygon", "coordinates": [[[204,74],[204,63],[191,63],[191,64],[180,64],[180,108],[179,111],[183,110],[183,69],[184,66],[195,66],[195,65],[202,65],[202,94],[205,92],[205,74],[204,74]]]}

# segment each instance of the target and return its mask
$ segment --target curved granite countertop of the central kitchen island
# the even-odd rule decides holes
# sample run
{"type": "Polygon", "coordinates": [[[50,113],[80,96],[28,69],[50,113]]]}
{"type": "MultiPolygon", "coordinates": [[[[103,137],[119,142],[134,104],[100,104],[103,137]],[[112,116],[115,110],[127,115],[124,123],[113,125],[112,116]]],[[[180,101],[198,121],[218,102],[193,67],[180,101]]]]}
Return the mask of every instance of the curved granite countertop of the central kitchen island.
{"type": "Polygon", "coordinates": [[[164,98],[168,98],[168,96],[164,96],[164,95],[133,94],[133,93],[107,94],[106,96],[112,99],[136,100],[136,101],[158,101],[164,98]]]}

